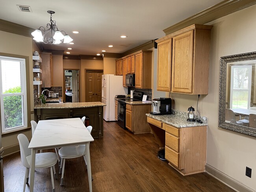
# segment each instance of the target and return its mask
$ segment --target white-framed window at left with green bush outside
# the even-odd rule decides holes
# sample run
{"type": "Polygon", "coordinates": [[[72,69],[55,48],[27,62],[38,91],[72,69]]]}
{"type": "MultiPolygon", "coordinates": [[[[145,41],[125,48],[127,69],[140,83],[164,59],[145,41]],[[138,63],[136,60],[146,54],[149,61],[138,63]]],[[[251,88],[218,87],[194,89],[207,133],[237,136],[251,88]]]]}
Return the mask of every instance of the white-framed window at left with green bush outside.
{"type": "Polygon", "coordinates": [[[0,56],[0,75],[2,133],[27,127],[25,59],[0,56]]]}

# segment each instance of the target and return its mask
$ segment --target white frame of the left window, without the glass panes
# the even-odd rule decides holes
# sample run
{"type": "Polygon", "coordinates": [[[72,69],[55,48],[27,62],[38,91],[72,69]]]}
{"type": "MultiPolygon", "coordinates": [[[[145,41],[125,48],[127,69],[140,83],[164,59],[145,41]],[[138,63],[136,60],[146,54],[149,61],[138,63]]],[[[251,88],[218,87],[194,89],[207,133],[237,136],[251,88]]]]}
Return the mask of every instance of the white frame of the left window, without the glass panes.
{"type": "Polygon", "coordinates": [[[20,62],[20,79],[21,79],[21,93],[3,94],[2,78],[0,78],[0,105],[1,105],[1,127],[2,133],[16,131],[28,127],[28,107],[27,107],[27,93],[26,93],[26,59],[18,57],[6,57],[0,55],[0,74],[2,75],[2,60],[18,61],[20,62]],[[4,125],[4,96],[22,96],[22,126],[5,129],[4,125]]]}

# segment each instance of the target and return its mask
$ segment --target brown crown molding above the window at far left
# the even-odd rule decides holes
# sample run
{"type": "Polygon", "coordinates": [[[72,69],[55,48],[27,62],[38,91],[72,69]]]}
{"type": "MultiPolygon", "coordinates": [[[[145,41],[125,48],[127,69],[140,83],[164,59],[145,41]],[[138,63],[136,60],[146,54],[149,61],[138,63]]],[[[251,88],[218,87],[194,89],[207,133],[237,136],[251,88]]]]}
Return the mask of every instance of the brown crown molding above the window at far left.
{"type": "Polygon", "coordinates": [[[35,30],[33,28],[0,19],[0,31],[6,31],[8,33],[32,37],[31,33],[35,30]]]}

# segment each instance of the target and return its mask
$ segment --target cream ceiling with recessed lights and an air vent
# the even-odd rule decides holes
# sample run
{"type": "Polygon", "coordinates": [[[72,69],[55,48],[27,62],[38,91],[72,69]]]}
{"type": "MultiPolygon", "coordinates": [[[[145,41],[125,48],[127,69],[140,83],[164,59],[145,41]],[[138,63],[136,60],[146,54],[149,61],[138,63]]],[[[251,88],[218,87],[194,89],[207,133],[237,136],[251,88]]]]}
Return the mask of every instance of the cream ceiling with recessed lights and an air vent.
{"type": "Polygon", "coordinates": [[[64,50],[71,55],[96,55],[102,50],[123,53],[165,36],[163,30],[222,0],[1,0],[0,18],[23,26],[46,28],[48,10],[55,11],[59,30],[72,39],[70,44],[43,44],[44,49],[64,50]],[[19,11],[30,6],[32,12],[19,11]],[[73,34],[72,31],[79,31],[73,34]],[[120,36],[128,36],[122,39],[120,36]],[[109,48],[108,45],[113,45],[109,48]]]}

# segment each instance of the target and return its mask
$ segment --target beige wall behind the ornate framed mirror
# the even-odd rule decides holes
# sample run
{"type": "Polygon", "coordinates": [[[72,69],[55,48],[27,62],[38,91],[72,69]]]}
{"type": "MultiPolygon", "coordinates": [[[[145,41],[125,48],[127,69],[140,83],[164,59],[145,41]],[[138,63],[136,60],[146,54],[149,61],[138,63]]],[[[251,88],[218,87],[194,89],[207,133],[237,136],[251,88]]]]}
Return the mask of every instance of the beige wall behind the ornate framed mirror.
{"type": "MultiPolygon", "coordinates": [[[[256,138],[218,127],[220,57],[256,51],[256,6],[207,24],[211,30],[209,90],[200,96],[198,111],[208,117],[207,165],[241,185],[256,190],[255,175],[245,176],[246,166],[256,170],[256,138]]],[[[169,92],[166,92],[169,96],[169,92]]],[[[197,95],[174,94],[176,110],[197,107],[197,95]]]]}

